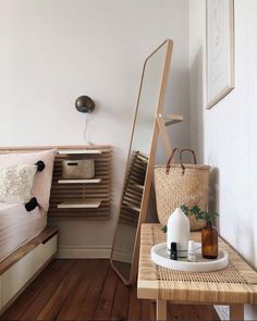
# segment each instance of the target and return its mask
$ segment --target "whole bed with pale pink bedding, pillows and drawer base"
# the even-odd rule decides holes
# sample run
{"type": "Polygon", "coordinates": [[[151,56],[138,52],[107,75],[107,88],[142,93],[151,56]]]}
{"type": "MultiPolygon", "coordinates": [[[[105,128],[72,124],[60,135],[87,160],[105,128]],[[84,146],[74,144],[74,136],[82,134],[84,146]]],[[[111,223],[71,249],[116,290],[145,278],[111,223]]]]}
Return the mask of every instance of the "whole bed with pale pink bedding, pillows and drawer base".
{"type": "Polygon", "coordinates": [[[57,252],[58,229],[47,226],[54,156],[0,148],[0,314],[57,252]]]}

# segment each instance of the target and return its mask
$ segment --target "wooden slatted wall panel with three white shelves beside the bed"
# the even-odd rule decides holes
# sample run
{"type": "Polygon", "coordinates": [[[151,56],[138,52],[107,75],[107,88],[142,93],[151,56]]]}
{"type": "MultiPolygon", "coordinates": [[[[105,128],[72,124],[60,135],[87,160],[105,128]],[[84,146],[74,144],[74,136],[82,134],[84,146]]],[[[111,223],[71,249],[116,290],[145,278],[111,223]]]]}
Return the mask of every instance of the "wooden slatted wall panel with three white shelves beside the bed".
{"type": "Polygon", "coordinates": [[[108,219],[111,199],[111,147],[61,147],[56,156],[49,217],[54,219],[108,219]],[[62,178],[63,160],[94,159],[95,177],[62,178]]]}

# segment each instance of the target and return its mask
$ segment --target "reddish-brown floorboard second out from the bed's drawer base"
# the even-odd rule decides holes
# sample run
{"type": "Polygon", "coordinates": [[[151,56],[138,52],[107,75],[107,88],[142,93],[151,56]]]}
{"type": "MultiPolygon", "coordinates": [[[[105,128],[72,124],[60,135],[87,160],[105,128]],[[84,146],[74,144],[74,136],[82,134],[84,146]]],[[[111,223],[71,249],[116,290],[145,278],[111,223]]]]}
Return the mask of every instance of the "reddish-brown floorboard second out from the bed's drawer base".
{"type": "Polygon", "coordinates": [[[40,293],[36,296],[36,298],[29,305],[28,309],[21,316],[19,320],[35,321],[37,319],[37,316],[40,313],[42,308],[47,305],[51,295],[61,284],[65,275],[69,274],[71,269],[74,267],[75,262],[76,262],[75,260],[66,260],[57,274],[54,273],[50,275],[46,286],[40,291],[40,293]]]}

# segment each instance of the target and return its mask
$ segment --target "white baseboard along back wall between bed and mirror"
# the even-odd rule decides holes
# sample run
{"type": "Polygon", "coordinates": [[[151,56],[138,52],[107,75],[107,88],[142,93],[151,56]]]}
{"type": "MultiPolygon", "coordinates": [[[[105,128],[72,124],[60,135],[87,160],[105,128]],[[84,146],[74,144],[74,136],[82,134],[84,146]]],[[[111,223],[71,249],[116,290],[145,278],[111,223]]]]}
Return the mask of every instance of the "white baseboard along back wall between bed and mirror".
{"type": "Polygon", "coordinates": [[[111,246],[59,246],[58,259],[110,259],[111,246]]]}

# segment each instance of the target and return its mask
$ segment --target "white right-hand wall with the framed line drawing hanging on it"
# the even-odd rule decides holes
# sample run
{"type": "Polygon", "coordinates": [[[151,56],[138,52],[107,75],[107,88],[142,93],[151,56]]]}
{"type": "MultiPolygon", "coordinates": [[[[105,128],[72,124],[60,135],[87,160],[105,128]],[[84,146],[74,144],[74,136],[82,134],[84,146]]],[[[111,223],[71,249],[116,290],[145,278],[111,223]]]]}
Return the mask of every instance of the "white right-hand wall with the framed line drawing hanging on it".
{"type": "MultiPolygon", "coordinates": [[[[234,1],[235,89],[209,111],[205,3],[189,1],[191,144],[215,169],[212,200],[221,235],[257,268],[257,1],[234,1]]],[[[246,319],[256,318],[256,307],[247,309],[246,319]]]]}

